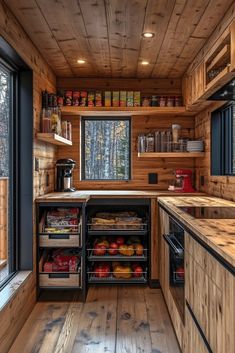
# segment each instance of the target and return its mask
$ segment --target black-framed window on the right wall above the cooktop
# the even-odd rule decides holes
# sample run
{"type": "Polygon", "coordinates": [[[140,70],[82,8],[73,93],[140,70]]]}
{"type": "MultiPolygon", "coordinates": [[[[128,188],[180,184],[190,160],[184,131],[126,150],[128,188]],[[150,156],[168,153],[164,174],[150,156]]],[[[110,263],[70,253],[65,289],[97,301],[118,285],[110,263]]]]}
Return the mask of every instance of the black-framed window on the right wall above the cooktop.
{"type": "Polygon", "coordinates": [[[211,174],[235,175],[234,103],[229,103],[212,113],[211,174]]]}

